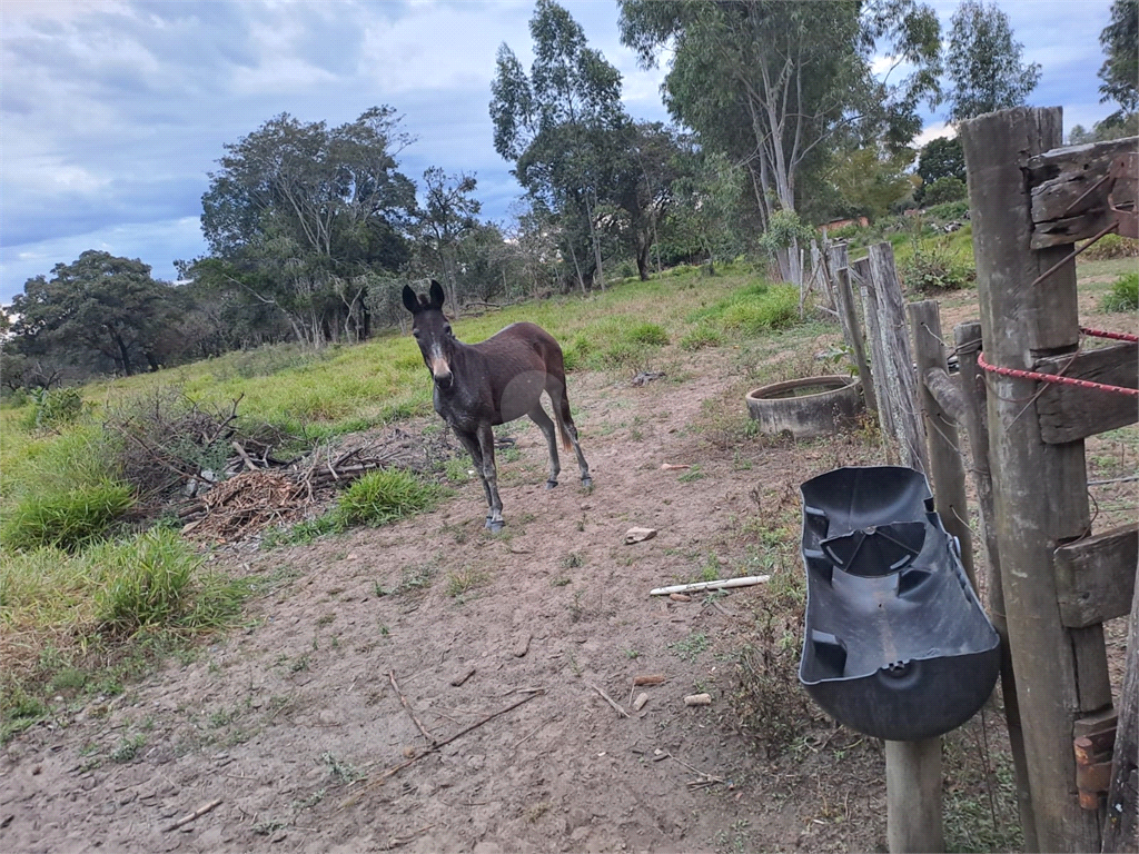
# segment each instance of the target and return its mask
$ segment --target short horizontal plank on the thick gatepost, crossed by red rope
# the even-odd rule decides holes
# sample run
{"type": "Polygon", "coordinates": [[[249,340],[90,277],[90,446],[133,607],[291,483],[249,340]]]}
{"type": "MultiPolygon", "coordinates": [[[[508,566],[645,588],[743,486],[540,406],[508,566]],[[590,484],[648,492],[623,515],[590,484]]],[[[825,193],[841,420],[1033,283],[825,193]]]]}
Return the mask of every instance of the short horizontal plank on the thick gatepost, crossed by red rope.
{"type": "MultiPolygon", "coordinates": [[[[1033,370],[1139,388],[1139,345],[1117,344],[1089,350],[1074,358],[1049,356],[1039,360],[1033,370]]],[[[1063,444],[1134,424],[1139,420],[1139,399],[1049,383],[1036,401],[1036,413],[1041,438],[1049,444],[1063,444]]]]}

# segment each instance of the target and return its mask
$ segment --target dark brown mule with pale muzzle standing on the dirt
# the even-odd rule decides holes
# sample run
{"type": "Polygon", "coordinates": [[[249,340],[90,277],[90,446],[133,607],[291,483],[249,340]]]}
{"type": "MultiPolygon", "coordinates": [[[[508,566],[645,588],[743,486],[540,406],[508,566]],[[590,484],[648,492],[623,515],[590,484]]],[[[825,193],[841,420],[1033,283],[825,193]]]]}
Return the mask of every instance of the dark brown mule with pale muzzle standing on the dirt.
{"type": "Polygon", "coordinates": [[[411,312],[411,334],[435,380],[435,411],[451,425],[483,482],[490,506],[487,528],[497,532],[503,525],[491,430],[494,425],[530,416],[546,435],[550,449],[550,477],[546,488],[558,485],[562,470],[558,443],[554,421],[542,409],[543,389],[550,395],[562,446],[567,452],[573,447],[581,467],[581,483],[592,486],[589,463],[581,452],[577,428],[570,414],[562,347],[549,332],[534,323],[511,323],[484,342],[464,344],[454,337],[451,325],[443,317],[443,288],[437,281],[432,281],[429,297],[416,297],[416,293],[404,285],[403,305],[411,312]]]}

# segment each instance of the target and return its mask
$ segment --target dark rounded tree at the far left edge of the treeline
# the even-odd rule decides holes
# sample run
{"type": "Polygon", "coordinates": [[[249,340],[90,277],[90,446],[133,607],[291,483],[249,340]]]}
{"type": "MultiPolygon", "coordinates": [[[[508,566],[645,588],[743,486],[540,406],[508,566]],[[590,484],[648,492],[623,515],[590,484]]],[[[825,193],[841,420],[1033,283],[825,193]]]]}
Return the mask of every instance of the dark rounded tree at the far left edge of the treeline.
{"type": "Polygon", "coordinates": [[[161,367],[156,345],[178,309],[172,286],[155,281],[150,266],[89,249],[56,264],[51,279],[36,276],[13,299],[13,332],[27,355],[49,352],[106,359],[132,375],[161,367]]]}

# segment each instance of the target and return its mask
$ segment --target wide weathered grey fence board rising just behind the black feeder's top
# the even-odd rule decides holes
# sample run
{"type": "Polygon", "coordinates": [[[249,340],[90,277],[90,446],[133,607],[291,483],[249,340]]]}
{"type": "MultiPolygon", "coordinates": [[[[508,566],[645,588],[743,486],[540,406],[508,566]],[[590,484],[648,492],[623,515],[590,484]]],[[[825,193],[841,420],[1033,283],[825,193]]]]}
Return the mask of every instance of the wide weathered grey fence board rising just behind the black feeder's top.
{"type": "Polygon", "coordinates": [[[909,325],[906,321],[906,298],[902,284],[894,268],[894,247],[879,243],[869,247],[870,278],[878,306],[878,335],[882,337],[883,370],[878,372],[878,392],[882,397],[883,377],[890,389],[887,396],[893,411],[891,421],[898,438],[902,463],[921,473],[929,471],[925,429],[918,402],[918,380],[910,355],[909,325]]]}

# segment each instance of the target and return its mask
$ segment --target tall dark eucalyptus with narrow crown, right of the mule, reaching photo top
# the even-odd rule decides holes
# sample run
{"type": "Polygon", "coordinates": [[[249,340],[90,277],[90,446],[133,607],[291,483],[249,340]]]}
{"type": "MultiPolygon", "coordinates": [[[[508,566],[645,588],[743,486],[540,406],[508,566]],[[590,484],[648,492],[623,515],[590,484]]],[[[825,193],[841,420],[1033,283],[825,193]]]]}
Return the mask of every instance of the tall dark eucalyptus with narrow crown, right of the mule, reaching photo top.
{"type": "Polygon", "coordinates": [[[620,150],[616,132],[629,122],[621,75],[554,0],[538,1],[530,34],[530,74],[506,43],[498,51],[490,104],[494,149],[515,163],[514,175],[532,197],[562,214],[563,249],[582,290],[595,278],[604,287],[596,208],[607,192],[606,164],[620,150]],[[581,237],[592,245],[592,269],[581,237]]]}

